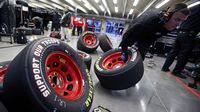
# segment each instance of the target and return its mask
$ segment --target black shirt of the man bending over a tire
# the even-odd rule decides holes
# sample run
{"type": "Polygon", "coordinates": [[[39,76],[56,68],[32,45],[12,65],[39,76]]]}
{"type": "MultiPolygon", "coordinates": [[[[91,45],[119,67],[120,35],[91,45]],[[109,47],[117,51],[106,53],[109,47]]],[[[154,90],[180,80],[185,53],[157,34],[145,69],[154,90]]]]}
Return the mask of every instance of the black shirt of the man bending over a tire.
{"type": "Polygon", "coordinates": [[[163,25],[162,13],[155,10],[143,13],[131,22],[123,35],[120,46],[122,49],[127,49],[128,46],[138,42],[143,47],[149,47],[157,38],[168,32],[163,25]]]}

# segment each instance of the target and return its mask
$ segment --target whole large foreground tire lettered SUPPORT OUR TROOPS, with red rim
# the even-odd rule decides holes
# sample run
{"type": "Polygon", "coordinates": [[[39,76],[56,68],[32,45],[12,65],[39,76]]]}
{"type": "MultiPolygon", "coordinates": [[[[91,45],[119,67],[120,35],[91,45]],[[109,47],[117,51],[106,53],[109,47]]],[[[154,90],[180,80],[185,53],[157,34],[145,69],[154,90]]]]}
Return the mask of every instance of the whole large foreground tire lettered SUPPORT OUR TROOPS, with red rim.
{"type": "Polygon", "coordinates": [[[41,38],[10,63],[4,78],[9,112],[88,112],[91,75],[78,53],[64,42],[41,38]]]}

